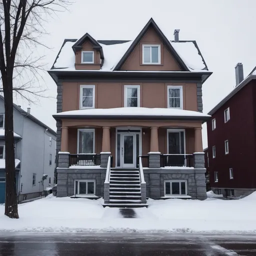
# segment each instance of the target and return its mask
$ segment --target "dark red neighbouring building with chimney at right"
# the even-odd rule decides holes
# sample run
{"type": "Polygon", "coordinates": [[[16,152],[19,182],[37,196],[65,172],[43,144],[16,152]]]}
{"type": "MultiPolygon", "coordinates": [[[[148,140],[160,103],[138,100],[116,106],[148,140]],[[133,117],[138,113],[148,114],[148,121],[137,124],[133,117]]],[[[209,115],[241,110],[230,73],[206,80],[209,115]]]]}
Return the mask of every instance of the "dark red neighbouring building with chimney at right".
{"type": "Polygon", "coordinates": [[[208,171],[210,188],[225,197],[256,190],[256,72],[243,79],[242,64],[235,67],[236,86],[208,114],[208,171]]]}

